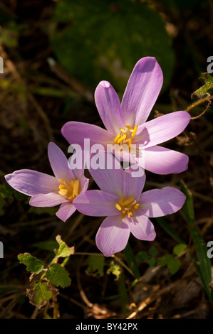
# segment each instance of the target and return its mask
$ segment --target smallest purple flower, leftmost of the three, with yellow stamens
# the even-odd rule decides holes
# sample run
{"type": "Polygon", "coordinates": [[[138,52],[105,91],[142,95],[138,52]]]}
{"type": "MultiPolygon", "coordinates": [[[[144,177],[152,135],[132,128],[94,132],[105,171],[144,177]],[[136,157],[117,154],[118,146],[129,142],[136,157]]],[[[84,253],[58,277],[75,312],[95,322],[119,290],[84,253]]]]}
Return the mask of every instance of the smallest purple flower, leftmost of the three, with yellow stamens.
{"type": "Polygon", "coordinates": [[[76,211],[73,200],[88,188],[83,169],[71,170],[68,160],[54,143],[48,144],[48,158],[55,176],[21,169],[5,176],[7,183],[20,193],[31,196],[29,204],[35,207],[60,205],[56,216],[64,222],[76,211]]]}

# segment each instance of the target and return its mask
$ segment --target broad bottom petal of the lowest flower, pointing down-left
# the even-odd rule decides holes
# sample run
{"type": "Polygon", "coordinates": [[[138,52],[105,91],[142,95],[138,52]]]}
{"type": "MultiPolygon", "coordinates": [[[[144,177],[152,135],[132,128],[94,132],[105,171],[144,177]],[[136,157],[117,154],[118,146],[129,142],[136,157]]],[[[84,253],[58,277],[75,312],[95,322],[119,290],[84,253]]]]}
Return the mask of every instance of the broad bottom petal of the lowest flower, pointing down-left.
{"type": "Polygon", "coordinates": [[[125,249],[130,237],[128,225],[122,221],[122,215],[106,217],[100,225],[95,241],[105,257],[125,249]]]}

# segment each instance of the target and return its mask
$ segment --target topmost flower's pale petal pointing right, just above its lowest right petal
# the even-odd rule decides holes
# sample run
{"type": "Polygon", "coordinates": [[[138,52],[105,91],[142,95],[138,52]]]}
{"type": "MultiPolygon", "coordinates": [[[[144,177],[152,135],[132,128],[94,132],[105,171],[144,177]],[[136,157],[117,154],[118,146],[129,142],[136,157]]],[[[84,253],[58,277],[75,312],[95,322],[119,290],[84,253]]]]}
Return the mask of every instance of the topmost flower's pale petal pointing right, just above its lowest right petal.
{"type": "Polygon", "coordinates": [[[146,122],[144,127],[137,131],[134,142],[145,144],[145,149],[164,143],[180,134],[191,117],[188,112],[171,112],[146,122]]]}

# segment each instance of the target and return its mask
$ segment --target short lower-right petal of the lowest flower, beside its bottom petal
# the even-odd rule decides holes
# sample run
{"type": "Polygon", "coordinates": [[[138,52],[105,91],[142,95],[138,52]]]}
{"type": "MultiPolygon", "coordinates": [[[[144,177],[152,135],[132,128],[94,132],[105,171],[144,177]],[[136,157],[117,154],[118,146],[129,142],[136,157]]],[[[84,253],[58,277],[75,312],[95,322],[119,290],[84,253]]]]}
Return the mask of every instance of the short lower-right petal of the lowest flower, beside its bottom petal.
{"type": "Polygon", "coordinates": [[[156,237],[155,228],[147,215],[140,209],[135,210],[135,217],[125,218],[134,237],[140,240],[152,241],[156,237]]]}

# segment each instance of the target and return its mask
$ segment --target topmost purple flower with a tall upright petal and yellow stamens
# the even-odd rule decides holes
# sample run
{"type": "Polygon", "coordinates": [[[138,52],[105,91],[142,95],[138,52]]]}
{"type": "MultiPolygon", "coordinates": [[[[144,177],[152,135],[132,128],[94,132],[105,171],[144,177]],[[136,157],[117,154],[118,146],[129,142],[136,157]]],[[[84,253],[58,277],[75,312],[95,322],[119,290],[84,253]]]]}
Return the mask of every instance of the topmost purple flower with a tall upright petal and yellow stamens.
{"type": "Polygon", "coordinates": [[[129,151],[132,144],[144,145],[145,162],[142,164],[145,166],[142,168],[157,174],[185,171],[188,157],[158,144],[180,134],[189,123],[190,115],[185,111],[172,112],[146,122],[162,82],[157,60],[152,57],[140,59],[130,75],[121,104],[110,82],[101,81],[95,90],[95,104],[106,129],[83,122],[67,122],[61,129],[63,136],[69,144],[78,144],[81,149],[84,139],[90,139],[90,146],[102,144],[104,151],[108,144],[118,144],[122,149],[126,144],[121,158],[139,165],[140,153],[130,154],[129,151]]]}

